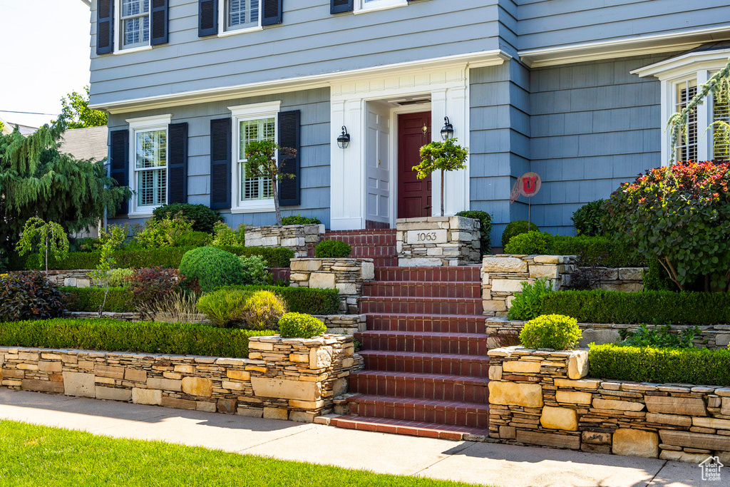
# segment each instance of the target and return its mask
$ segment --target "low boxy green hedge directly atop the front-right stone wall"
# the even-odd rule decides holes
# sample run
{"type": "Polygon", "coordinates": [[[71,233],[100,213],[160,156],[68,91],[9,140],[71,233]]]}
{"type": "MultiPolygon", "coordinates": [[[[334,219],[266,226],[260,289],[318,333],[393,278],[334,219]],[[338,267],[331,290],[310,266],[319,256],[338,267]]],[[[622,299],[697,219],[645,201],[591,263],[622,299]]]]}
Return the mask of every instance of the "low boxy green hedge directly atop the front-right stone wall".
{"type": "Polygon", "coordinates": [[[730,386],[730,350],[591,345],[591,377],[730,386]]]}

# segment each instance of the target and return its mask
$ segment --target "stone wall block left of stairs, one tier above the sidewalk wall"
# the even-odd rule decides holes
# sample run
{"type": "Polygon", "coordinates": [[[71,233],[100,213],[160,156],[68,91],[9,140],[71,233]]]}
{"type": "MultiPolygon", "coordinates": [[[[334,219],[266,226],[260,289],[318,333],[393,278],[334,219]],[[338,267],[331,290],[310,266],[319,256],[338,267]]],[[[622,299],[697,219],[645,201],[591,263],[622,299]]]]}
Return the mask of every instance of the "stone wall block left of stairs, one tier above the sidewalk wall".
{"type": "Polygon", "coordinates": [[[290,285],[293,288],[338,289],[340,311],[358,313],[363,282],[375,278],[372,258],[293,258],[290,285]]]}

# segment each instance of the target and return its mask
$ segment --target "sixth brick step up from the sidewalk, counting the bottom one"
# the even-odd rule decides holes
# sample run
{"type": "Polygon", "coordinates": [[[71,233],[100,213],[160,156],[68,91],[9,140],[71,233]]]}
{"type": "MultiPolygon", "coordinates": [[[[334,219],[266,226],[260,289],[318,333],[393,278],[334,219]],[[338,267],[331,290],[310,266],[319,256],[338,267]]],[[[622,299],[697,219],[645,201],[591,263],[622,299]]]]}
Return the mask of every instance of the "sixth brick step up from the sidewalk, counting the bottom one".
{"type": "Polygon", "coordinates": [[[367,315],[369,331],[426,331],[436,333],[485,333],[484,315],[409,315],[407,313],[367,315]]]}

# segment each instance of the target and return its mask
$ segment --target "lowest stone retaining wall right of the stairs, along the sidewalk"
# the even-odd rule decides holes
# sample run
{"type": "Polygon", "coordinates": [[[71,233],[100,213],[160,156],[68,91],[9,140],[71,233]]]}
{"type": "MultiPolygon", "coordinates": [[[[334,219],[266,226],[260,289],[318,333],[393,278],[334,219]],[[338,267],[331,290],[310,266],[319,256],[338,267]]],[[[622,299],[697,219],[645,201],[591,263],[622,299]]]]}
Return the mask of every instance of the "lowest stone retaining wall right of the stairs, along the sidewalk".
{"type": "Polygon", "coordinates": [[[587,350],[510,347],[488,355],[493,441],[730,461],[730,388],[585,378],[587,350]]]}

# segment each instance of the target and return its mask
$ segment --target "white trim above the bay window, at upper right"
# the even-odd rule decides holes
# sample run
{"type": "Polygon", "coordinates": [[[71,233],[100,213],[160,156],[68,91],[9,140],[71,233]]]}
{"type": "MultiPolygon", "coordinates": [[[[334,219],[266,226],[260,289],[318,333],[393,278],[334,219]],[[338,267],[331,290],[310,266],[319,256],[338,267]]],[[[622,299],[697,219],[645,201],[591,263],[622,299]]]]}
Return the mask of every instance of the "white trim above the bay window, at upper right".
{"type": "Polygon", "coordinates": [[[704,42],[728,38],[730,38],[730,25],[725,25],[669,34],[654,34],[610,41],[582,42],[559,47],[522,50],[518,52],[518,55],[527,66],[537,68],[556,64],[693,49],[704,42]]]}

